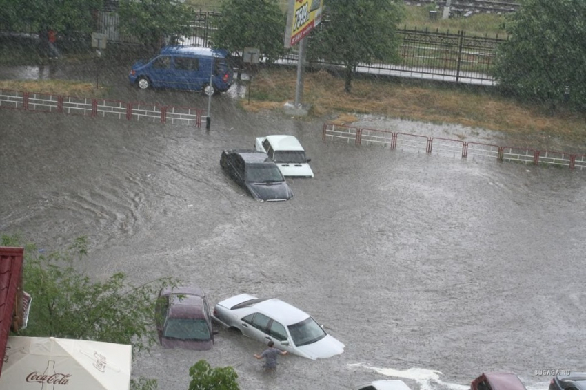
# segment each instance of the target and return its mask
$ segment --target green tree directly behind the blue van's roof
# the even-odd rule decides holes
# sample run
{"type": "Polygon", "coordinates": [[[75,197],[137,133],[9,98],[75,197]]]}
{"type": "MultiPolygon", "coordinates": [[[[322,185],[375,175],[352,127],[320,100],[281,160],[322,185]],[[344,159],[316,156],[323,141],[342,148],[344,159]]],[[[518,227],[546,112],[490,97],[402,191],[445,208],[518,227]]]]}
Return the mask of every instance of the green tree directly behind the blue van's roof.
{"type": "Polygon", "coordinates": [[[120,0],[118,14],[121,31],[135,36],[153,51],[161,47],[165,37],[190,33],[192,12],[178,1],[120,0]]]}

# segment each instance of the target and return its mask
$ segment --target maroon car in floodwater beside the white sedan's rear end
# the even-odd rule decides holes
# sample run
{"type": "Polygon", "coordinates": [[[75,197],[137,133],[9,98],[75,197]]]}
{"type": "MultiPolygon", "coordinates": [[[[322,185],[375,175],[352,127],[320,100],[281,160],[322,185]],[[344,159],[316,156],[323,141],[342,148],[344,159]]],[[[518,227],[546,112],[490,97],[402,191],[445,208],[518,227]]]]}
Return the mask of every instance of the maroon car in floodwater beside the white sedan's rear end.
{"type": "Polygon", "coordinates": [[[155,323],[163,348],[204,351],[214,345],[210,305],[201,288],[163,288],[156,300],[155,323]]]}

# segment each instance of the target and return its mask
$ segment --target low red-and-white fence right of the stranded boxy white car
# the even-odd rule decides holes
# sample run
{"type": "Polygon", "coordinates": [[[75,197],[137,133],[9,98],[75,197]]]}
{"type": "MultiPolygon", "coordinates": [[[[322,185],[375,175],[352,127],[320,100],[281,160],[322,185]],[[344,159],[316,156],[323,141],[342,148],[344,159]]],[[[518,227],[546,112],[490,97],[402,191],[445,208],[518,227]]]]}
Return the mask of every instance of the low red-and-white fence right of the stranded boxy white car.
{"type": "Polygon", "coordinates": [[[586,169],[585,154],[544,151],[525,147],[503,147],[482,142],[465,142],[463,140],[358,128],[333,123],[323,124],[322,139],[324,141],[344,141],[357,145],[376,145],[392,150],[425,151],[427,154],[449,155],[460,158],[493,158],[497,161],[586,169]]]}

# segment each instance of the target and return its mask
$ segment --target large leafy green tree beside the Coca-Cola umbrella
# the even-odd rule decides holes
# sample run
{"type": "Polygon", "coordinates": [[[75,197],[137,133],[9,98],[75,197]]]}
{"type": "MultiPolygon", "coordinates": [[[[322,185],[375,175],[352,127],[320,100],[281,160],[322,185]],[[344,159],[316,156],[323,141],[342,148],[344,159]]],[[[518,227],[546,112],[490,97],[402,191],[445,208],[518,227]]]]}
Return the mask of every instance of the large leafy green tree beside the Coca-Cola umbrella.
{"type": "MultiPolygon", "coordinates": [[[[21,246],[19,237],[2,236],[2,246],[21,246]]],[[[26,246],[24,290],[32,295],[28,325],[19,336],[76,338],[132,345],[133,354],[156,343],[154,296],[172,279],[132,285],[123,273],[92,281],[74,268],[88,253],[85,237],[62,252],[41,254],[26,246]]],[[[133,389],[156,389],[140,378],[133,389]]]]}

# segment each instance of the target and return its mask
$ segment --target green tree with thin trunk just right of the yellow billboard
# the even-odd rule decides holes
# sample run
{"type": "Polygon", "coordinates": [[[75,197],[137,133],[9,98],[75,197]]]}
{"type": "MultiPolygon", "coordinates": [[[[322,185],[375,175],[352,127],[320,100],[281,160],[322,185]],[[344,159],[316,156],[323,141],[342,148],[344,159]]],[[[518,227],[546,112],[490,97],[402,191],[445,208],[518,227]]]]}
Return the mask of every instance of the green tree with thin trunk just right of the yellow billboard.
{"type": "Polygon", "coordinates": [[[308,56],[343,63],[346,92],[358,63],[399,61],[396,26],[403,19],[403,2],[336,0],[325,8],[327,24],[309,41],[308,56]]]}

